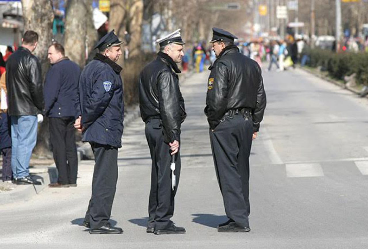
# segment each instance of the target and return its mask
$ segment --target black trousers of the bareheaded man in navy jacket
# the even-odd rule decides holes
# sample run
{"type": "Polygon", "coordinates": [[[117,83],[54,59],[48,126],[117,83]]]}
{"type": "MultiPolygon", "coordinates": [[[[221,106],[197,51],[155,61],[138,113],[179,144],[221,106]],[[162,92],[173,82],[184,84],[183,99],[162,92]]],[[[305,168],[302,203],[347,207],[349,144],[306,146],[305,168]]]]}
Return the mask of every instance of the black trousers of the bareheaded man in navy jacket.
{"type": "Polygon", "coordinates": [[[78,158],[74,117],[49,118],[50,143],[60,184],[77,183],[78,158]]]}

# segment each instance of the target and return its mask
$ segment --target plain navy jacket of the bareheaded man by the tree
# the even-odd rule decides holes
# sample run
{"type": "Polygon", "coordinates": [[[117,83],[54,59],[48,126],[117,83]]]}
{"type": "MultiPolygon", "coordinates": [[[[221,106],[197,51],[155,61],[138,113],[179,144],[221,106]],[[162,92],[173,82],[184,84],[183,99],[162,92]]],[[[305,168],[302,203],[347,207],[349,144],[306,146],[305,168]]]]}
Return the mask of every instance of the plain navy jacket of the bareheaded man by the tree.
{"type": "Polygon", "coordinates": [[[43,95],[45,96],[44,114],[50,118],[74,117],[75,101],[78,92],[78,80],[81,75],[79,66],[64,57],[52,65],[46,74],[43,95]]]}

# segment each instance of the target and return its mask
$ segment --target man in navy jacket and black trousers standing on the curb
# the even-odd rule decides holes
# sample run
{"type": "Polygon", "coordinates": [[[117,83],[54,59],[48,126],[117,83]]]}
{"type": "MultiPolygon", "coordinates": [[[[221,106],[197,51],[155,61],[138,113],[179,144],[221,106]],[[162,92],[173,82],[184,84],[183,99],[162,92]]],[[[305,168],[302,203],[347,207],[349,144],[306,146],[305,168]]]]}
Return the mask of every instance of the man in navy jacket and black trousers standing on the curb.
{"type": "Polygon", "coordinates": [[[75,99],[78,80],[81,74],[79,66],[65,56],[65,50],[59,43],[49,47],[47,58],[51,67],[46,74],[45,116],[49,118],[50,144],[58,171],[56,183],[49,187],[77,186],[77,145],[75,144],[75,99]]]}

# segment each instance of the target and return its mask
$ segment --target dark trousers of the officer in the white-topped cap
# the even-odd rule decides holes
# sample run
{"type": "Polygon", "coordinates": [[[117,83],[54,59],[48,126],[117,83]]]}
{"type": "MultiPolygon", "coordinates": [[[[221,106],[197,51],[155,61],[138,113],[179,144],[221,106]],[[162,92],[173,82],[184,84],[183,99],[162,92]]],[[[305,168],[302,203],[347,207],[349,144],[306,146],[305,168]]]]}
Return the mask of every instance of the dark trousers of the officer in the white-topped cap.
{"type": "Polygon", "coordinates": [[[151,119],[146,123],[145,133],[151,152],[151,192],[148,203],[148,226],[155,229],[171,227],[170,220],[174,214],[174,197],[180,178],[180,155],[176,155],[176,186],[171,189],[171,155],[170,146],[163,140],[163,131],[159,119],[151,119]]]}

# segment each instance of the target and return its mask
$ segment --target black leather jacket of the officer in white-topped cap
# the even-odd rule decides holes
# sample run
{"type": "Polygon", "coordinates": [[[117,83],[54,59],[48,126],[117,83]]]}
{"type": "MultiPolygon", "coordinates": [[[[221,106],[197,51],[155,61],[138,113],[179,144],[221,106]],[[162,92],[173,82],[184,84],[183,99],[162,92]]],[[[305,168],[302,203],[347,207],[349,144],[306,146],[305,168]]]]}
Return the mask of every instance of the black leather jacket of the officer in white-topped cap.
{"type": "Polygon", "coordinates": [[[166,143],[180,141],[180,125],[187,116],[177,73],[181,71],[171,57],[159,52],[144,67],[138,83],[141,117],[145,123],[161,120],[166,143]]]}

